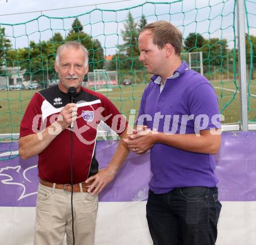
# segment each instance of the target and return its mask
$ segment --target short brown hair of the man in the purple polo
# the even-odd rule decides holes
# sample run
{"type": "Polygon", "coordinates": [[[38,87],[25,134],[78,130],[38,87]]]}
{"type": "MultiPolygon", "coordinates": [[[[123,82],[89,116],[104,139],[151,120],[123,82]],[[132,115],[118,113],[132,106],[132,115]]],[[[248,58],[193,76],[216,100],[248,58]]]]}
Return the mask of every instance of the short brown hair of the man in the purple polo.
{"type": "Polygon", "coordinates": [[[143,31],[150,31],[153,36],[153,43],[162,49],[165,44],[171,44],[175,49],[176,55],[180,55],[182,52],[182,33],[181,31],[173,26],[173,24],[169,23],[165,20],[156,21],[150,24],[147,24],[141,30],[143,31]]]}

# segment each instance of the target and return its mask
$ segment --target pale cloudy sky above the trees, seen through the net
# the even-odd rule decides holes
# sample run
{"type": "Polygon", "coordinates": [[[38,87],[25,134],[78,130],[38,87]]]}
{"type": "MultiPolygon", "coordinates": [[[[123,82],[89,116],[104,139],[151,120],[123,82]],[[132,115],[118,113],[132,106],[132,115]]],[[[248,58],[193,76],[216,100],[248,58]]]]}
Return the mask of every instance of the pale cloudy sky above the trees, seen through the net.
{"type": "MultiPolygon", "coordinates": [[[[183,38],[196,32],[205,38],[226,38],[229,47],[233,48],[233,0],[151,1],[174,2],[172,4],[145,2],[147,1],[0,0],[0,26],[5,27],[5,33],[14,48],[23,48],[28,46],[30,41],[46,41],[55,32],[60,32],[65,37],[74,17],[79,15],[84,31],[99,39],[105,48],[105,55],[113,55],[116,45],[123,43],[120,33],[129,11],[127,8],[131,8],[131,14],[136,21],[140,20],[142,14],[146,16],[148,23],[168,20],[182,31],[183,38]],[[141,6],[133,8],[137,5],[141,6]],[[76,6],[79,8],[74,8],[76,6]],[[102,11],[95,10],[97,8],[102,11]]],[[[250,5],[250,1],[247,5],[250,5]]],[[[255,9],[255,6],[247,6],[249,14],[250,9],[255,9]]],[[[251,23],[256,23],[253,13],[250,17],[251,23]]],[[[250,29],[250,33],[255,33],[254,27],[250,29]]]]}

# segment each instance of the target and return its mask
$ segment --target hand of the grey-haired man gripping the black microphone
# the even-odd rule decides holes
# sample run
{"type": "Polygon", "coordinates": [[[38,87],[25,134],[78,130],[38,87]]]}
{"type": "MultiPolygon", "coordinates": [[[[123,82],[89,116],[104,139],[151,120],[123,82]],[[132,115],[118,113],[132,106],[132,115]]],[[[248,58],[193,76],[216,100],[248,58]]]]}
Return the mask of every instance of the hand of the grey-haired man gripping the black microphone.
{"type": "Polygon", "coordinates": [[[69,103],[59,113],[58,123],[61,125],[62,130],[69,127],[72,121],[75,121],[77,118],[77,107],[74,103],[69,103]]]}

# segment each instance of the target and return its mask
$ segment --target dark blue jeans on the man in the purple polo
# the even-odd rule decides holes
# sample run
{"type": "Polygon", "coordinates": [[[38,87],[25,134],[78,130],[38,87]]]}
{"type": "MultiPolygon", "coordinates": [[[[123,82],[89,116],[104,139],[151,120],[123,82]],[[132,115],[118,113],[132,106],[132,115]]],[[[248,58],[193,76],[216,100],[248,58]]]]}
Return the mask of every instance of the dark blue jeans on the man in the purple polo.
{"type": "Polygon", "coordinates": [[[217,187],[148,193],[147,221],[154,245],[214,245],[220,212],[217,187]]]}

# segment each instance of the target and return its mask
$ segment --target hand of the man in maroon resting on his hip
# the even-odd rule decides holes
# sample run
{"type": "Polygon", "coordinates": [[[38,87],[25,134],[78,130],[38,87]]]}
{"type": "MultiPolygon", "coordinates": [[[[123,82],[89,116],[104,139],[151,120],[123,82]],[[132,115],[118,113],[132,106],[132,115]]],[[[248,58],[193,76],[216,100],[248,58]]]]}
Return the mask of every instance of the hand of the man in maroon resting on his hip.
{"type": "Polygon", "coordinates": [[[86,180],[86,183],[90,181],[94,181],[90,188],[88,188],[88,192],[93,190],[92,195],[99,194],[109,182],[113,180],[116,175],[116,170],[112,168],[106,167],[102,170],[99,170],[97,174],[91,176],[86,180]]]}

